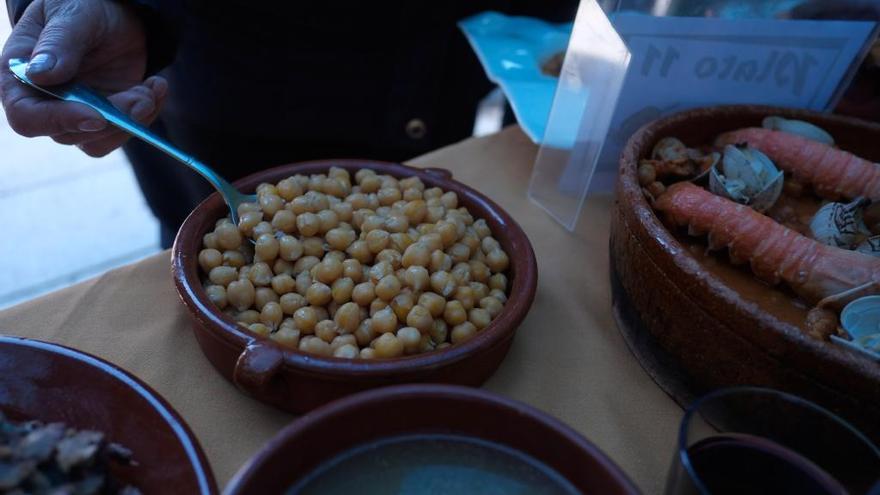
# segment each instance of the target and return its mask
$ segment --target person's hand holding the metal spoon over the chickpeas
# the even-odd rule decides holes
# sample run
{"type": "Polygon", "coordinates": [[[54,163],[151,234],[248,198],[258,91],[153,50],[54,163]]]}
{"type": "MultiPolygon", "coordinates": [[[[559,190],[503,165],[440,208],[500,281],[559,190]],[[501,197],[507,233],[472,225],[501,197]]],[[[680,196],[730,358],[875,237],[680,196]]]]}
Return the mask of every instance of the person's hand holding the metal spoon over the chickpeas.
{"type": "Polygon", "coordinates": [[[77,79],[108,96],[120,110],[149,124],[159,114],[168,84],[146,70],[146,39],[136,15],[107,0],[35,0],[15,25],[0,55],[0,99],[12,129],[50,136],[90,156],[121,146],[128,134],[98,112],[46,97],[7,69],[10,58],[30,58],[28,77],[40,85],[77,79]]]}

